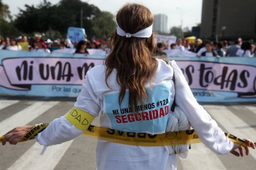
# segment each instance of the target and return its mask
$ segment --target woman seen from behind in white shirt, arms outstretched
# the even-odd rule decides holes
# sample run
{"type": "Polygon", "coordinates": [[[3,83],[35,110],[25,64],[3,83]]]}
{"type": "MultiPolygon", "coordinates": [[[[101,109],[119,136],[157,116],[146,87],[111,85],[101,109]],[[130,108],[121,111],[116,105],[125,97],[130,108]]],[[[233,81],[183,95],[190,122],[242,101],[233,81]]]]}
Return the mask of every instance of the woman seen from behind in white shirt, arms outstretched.
{"type": "MultiPolygon", "coordinates": [[[[141,104],[151,104],[168,99],[169,108],[174,99],[187,115],[193,129],[196,130],[204,145],[218,154],[229,152],[238,154],[234,144],[224,135],[217,123],[200,106],[188,86],[181,69],[175,61],[170,66],[161,59],[155,59],[154,35],[152,24],[154,16],[139,4],[126,4],[116,15],[117,30],[110,37],[110,54],[105,64],[93,67],[87,72],[82,91],[74,108],[87,120],[100,115],[102,127],[121,131],[162,134],[166,130],[168,116],[143,121],[127,122],[127,119],[113,115],[112,110],[132,108],[135,118],[141,104]],[[175,87],[172,80],[175,75],[175,87]],[[174,91],[175,88],[175,91],[174,91]]],[[[154,109],[159,109],[155,107],[154,109]]],[[[118,116],[118,115],[117,115],[118,116]]],[[[91,120],[91,121],[92,121],[91,120]]],[[[88,124],[91,123],[89,121],[88,124]]],[[[78,137],[88,128],[74,122],[69,114],[54,119],[49,126],[39,133],[37,141],[44,146],[56,145],[78,137]]],[[[9,141],[16,144],[33,126],[23,126],[5,135],[3,144],[9,141]]],[[[248,144],[254,144],[246,139],[248,144]]],[[[248,154],[248,147],[246,147],[248,154]]],[[[90,154],[90,153],[88,153],[90,154]]],[[[176,155],[170,154],[167,146],[141,147],[121,145],[98,140],[98,170],[171,170],[177,168],[176,155]]]]}

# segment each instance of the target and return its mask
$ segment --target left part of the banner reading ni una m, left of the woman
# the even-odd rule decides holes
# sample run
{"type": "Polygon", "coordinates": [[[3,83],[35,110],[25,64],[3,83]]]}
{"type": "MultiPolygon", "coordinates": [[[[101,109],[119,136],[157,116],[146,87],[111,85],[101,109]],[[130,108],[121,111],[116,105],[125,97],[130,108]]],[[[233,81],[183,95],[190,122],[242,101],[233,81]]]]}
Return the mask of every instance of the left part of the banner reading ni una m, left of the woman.
{"type": "Polygon", "coordinates": [[[1,50],[0,95],[76,97],[86,72],[104,58],[1,50]]]}

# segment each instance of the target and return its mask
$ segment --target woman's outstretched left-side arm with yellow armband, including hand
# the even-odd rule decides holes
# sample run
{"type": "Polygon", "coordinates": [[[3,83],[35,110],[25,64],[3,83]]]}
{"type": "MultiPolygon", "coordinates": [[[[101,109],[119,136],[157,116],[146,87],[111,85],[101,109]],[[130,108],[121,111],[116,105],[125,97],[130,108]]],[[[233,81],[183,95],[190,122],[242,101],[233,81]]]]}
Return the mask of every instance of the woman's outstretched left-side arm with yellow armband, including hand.
{"type": "MultiPolygon", "coordinates": [[[[78,137],[90,126],[94,117],[99,114],[99,99],[90,83],[90,71],[87,72],[82,90],[74,108],[66,116],[54,119],[49,126],[38,134],[37,141],[41,145],[60,144],[78,137]]],[[[16,145],[33,126],[21,126],[4,135],[2,145],[8,141],[16,145]]]]}

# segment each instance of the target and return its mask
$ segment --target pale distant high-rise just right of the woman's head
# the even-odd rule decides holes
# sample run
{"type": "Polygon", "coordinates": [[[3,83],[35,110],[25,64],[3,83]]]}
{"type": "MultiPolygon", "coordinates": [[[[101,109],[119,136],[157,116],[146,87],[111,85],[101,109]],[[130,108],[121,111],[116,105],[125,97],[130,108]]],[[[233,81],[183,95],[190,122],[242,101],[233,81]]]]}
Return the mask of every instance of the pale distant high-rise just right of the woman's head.
{"type": "Polygon", "coordinates": [[[157,14],[154,15],[154,18],[153,29],[158,32],[169,33],[167,29],[167,15],[157,14]]]}

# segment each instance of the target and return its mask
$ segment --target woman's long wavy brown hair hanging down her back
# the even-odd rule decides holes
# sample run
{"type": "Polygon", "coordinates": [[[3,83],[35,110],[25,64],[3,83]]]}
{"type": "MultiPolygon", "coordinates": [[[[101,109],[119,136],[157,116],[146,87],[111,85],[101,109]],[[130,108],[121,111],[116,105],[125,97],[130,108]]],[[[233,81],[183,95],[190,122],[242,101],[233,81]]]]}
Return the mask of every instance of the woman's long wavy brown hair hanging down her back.
{"type": "MultiPolygon", "coordinates": [[[[126,4],[117,12],[116,21],[123,31],[133,34],[150,27],[154,22],[154,16],[143,5],[126,4]]],[[[155,52],[154,34],[149,38],[127,38],[113,31],[109,46],[111,51],[105,59],[105,82],[108,86],[107,79],[113,69],[116,69],[117,82],[121,86],[119,104],[128,88],[129,106],[138,112],[137,102],[144,104],[145,99],[148,100],[145,82],[150,81],[158,66],[157,60],[152,57],[155,52]]]]}

